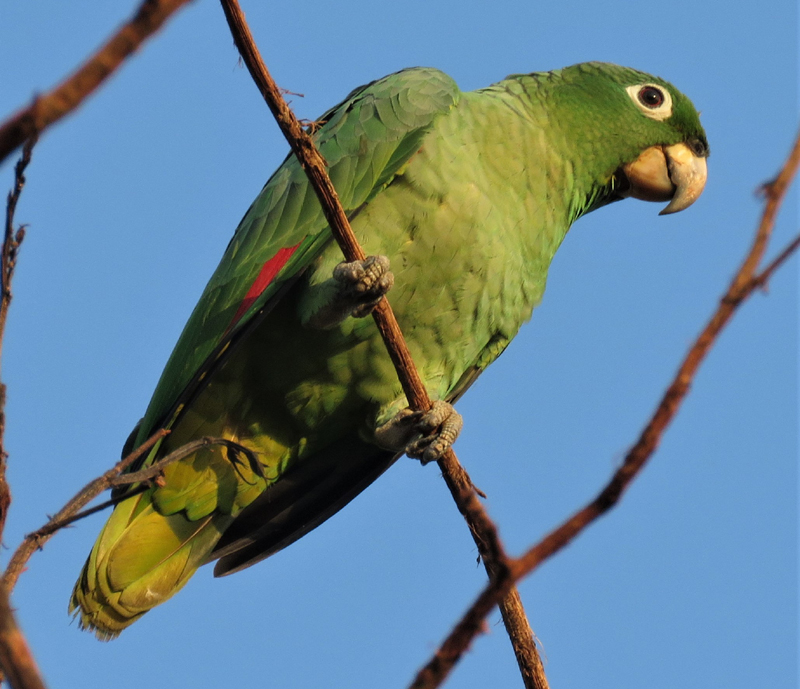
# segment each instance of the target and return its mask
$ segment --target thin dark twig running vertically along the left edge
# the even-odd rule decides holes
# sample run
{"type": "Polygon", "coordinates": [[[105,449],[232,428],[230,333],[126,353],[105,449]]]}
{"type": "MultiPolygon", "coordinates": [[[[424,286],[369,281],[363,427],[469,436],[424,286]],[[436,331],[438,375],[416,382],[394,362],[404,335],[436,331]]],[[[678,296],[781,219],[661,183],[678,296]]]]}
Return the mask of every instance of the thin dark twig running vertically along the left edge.
{"type": "MultiPolygon", "coordinates": [[[[22,157],[14,166],[14,186],[8,192],[6,201],[6,224],[3,233],[3,248],[0,251],[0,357],[3,353],[3,340],[6,333],[6,320],[8,308],[11,305],[11,280],[14,269],[17,267],[17,254],[22,239],[25,237],[25,228],[14,227],[14,213],[17,210],[20,194],[25,186],[25,168],[31,162],[31,152],[36,144],[36,138],[28,139],[22,149],[22,157]]],[[[11,488],[6,480],[8,452],[5,447],[6,432],[6,386],[0,381],[0,542],[3,540],[8,508],[11,506],[11,488]]]]}

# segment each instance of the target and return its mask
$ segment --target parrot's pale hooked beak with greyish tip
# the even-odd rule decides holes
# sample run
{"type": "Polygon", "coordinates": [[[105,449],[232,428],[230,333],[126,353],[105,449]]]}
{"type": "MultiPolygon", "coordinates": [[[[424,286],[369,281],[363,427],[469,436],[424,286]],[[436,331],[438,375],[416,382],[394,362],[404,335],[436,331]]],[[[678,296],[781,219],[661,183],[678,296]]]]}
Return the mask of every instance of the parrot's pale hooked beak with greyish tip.
{"type": "Polygon", "coordinates": [[[622,166],[629,188],[625,196],[642,201],[669,201],[659,215],[691,206],[703,193],[708,176],[704,156],[684,143],[651,146],[632,163],[622,166]]]}

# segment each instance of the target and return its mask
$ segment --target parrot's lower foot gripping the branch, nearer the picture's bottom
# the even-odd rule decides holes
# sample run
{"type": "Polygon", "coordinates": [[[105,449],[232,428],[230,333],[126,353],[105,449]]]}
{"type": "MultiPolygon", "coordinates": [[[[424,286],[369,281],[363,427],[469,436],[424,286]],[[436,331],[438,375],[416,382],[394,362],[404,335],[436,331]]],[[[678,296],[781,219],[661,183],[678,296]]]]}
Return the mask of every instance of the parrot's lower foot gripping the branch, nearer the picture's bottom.
{"type": "Polygon", "coordinates": [[[461,433],[464,420],[452,404],[434,402],[426,412],[403,409],[375,429],[375,440],[382,447],[404,450],[422,464],[442,458],[461,433]],[[420,437],[421,436],[421,437],[420,437]]]}

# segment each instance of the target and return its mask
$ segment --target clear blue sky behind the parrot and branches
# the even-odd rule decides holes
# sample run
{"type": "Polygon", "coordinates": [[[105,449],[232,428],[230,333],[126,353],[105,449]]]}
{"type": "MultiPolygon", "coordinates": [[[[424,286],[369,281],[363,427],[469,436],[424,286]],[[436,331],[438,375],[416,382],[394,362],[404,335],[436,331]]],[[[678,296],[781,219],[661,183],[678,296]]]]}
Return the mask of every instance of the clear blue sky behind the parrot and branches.
{"type": "MultiPolygon", "coordinates": [[[[0,6],[0,113],[56,83],[137,3],[0,6]]],[[[246,0],[301,117],[412,65],[462,89],[605,60],[702,110],[691,209],[579,221],[532,322],[460,404],[458,454],[518,553],[590,499],[637,437],[749,245],[797,125],[797,8],[736,3],[246,0]],[[301,13],[297,13],[297,8],[301,13]]],[[[222,12],[182,11],[40,142],[3,349],[13,548],[105,470],[233,229],[286,153],[222,12]]],[[[11,165],[0,169],[10,187],[11,165]]],[[[775,247],[797,227],[796,196],[775,247]]],[[[621,506],[521,585],[554,687],[797,686],[797,260],[736,317],[621,506]]],[[[14,593],[51,687],[403,687],[483,585],[435,466],[399,461],[291,548],[201,570],[109,644],[66,615],[101,527],[36,554],[14,593]]],[[[6,551],[8,552],[8,551],[6,551]]],[[[449,686],[519,686],[491,619],[449,686]]]]}

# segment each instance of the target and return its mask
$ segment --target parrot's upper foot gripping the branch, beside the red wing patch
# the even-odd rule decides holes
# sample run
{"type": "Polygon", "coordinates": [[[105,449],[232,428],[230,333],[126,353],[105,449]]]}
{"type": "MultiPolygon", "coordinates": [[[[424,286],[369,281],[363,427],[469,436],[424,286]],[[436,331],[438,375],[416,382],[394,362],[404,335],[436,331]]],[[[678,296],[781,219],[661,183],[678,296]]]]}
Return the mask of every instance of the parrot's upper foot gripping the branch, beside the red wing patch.
{"type": "Polygon", "coordinates": [[[332,328],[348,316],[364,318],[394,285],[386,256],[367,256],[363,261],[340,263],[333,269],[334,297],[314,314],[315,328],[332,328]]]}

